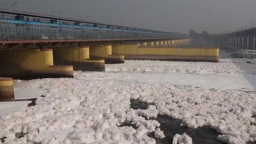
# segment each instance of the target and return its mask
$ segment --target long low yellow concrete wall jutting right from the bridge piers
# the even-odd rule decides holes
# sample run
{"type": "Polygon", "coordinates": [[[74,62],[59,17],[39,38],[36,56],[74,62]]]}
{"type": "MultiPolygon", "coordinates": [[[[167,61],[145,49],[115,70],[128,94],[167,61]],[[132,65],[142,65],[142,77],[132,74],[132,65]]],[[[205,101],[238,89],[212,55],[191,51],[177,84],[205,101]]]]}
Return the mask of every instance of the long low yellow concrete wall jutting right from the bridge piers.
{"type": "Polygon", "coordinates": [[[114,46],[114,49],[116,51],[115,54],[124,54],[127,60],[151,59],[211,62],[218,62],[219,60],[219,48],[214,47],[138,47],[136,44],[129,44],[126,47],[126,44],[118,44],[114,46]]]}

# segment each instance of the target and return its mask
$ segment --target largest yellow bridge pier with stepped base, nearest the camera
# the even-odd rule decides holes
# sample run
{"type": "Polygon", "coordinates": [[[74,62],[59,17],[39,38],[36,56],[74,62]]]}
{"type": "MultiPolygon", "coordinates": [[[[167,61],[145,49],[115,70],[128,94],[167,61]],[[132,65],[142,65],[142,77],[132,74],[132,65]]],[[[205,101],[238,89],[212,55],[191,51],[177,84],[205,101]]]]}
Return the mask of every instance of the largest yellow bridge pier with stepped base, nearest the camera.
{"type": "Polygon", "coordinates": [[[0,50],[0,77],[73,78],[73,66],[54,66],[52,49],[0,50]]]}

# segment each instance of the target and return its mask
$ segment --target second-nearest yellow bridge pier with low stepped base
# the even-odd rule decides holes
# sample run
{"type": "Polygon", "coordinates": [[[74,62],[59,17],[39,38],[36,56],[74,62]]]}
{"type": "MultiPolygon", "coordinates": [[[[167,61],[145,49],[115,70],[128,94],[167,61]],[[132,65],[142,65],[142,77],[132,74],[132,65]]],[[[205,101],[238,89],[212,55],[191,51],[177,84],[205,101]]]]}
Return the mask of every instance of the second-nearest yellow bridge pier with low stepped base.
{"type": "Polygon", "coordinates": [[[104,59],[90,59],[89,46],[56,47],[53,59],[55,65],[73,65],[74,70],[105,71],[104,59]]]}

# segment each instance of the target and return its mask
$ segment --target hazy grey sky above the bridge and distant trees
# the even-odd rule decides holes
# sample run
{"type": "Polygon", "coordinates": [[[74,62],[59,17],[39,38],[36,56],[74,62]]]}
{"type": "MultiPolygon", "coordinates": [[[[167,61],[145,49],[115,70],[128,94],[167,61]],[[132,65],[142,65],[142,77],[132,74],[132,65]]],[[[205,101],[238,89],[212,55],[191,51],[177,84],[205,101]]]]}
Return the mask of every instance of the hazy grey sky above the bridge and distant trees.
{"type": "Polygon", "coordinates": [[[211,33],[256,24],[256,0],[0,0],[18,4],[14,10],[136,26],[161,31],[211,33]]]}

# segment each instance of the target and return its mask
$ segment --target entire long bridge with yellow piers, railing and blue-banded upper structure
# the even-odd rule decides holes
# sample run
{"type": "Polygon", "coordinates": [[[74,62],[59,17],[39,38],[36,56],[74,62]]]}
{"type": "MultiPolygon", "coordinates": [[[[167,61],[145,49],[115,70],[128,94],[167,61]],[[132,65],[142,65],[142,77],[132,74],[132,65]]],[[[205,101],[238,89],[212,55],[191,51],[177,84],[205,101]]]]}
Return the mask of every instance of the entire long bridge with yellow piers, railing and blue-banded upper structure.
{"type": "Polygon", "coordinates": [[[191,47],[179,32],[163,32],[0,9],[0,77],[73,77],[130,59],[218,62],[219,48],[191,47]]]}

